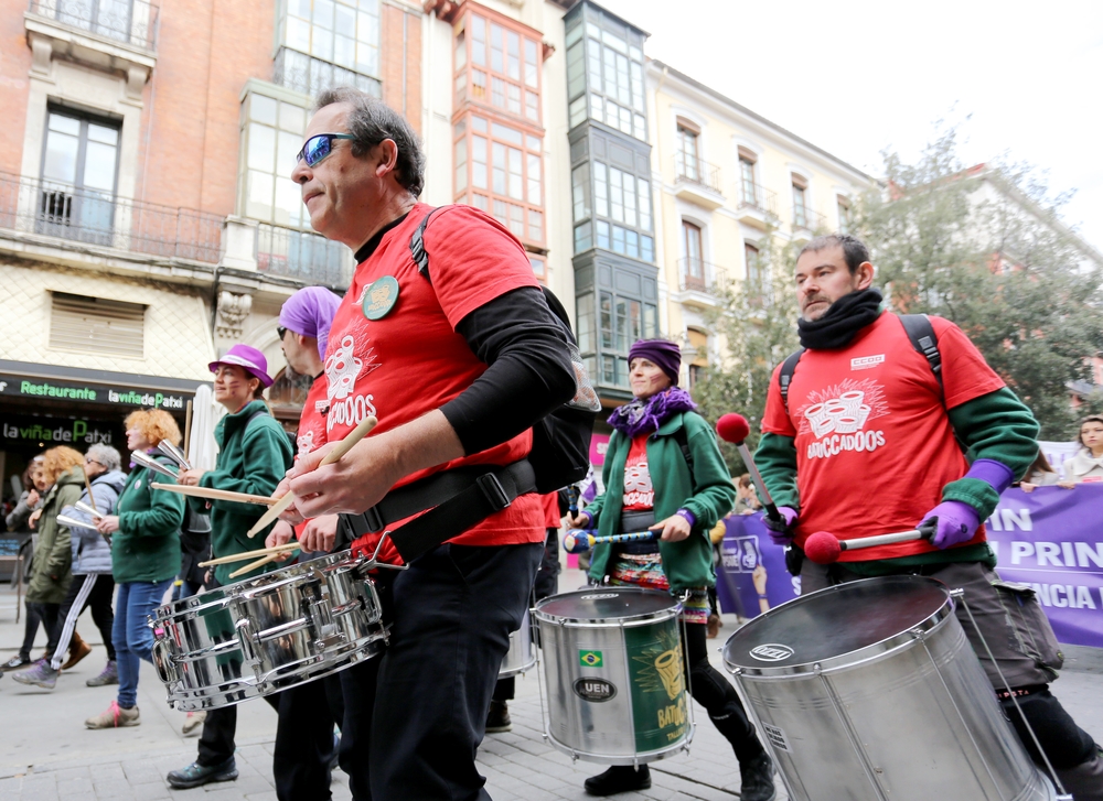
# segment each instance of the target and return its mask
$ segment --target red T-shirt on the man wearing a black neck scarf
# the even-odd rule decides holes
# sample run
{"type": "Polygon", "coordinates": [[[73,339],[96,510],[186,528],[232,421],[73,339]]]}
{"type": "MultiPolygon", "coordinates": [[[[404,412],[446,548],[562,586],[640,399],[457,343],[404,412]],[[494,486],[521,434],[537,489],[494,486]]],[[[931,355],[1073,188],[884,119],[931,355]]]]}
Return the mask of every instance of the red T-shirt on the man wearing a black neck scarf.
{"type": "MultiPolygon", "coordinates": [[[[789,388],[789,414],[770,382],[762,431],[794,437],[801,513],[797,545],[829,531],[840,540],[908,531],[942,501],[968,463],[945,409],[1004,387],[962,331],[931,317],[945,401],[927,358],[895,314],[881,314],[837,350],[805,350],[789,388]]],[[[984,542],[984,526],[964,544],[984,542]]],[[[923,540],[843,551],[840,562],[934,551],[923,540]]]]}

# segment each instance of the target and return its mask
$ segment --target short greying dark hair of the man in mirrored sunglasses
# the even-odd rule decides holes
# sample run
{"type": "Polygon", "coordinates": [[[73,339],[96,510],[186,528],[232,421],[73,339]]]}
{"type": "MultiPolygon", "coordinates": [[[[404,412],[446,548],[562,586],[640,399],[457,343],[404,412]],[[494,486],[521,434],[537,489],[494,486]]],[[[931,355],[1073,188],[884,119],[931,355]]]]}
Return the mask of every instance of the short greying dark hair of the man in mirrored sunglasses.
{"type": "Polygon", "coordinates": [[[349,112],[349,132],[356,137],[352,143],[352,154],[363,156],[384,139],[392,140],[398,145],[398,160],[395,164],[398,183],[414,197],[420,196],[425,188],[425,153],[417,133],[406,118],[377,97],[351,86],[335,86],[322,91],[314,102],[314,111],[336,102],[352,106],[349,112]]]}

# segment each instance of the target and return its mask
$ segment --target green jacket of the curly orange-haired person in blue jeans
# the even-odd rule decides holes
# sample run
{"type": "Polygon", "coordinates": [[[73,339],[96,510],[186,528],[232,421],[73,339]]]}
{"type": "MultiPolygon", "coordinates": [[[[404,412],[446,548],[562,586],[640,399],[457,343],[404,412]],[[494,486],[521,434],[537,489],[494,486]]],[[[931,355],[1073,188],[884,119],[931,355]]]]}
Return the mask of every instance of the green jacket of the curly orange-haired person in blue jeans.
{"type": "MultiPolygon", "coordinates": [[[[176,473],[172,462],[156,458],[176,473]]],[[[119,496],[115,511],[119,530],[111,537],[111,575],[117,584],[163,582],[180,572],[184,496],[153,489],[153,481],[172,484],[167,476],[135,467],[119,496]]]]}

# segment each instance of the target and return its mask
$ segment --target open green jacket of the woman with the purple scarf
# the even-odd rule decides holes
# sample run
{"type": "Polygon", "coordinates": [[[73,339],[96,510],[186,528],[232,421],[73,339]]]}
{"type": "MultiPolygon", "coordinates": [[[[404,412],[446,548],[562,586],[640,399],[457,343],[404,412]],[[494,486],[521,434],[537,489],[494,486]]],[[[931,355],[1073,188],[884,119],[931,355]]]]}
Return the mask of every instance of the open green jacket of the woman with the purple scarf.
{"type": "MultiPolygon", "coordinates": [[[[624,463],[631,444],[629,437],[619,431],[613,432],[601,470],[606,491],[586,507],[586,511],[593,516],[601,537],[621,533],[624,463]]],[[[672,415],[647,439],[647,468],[655,487],[655,521],[665,520],[683,508],[697,518],[688,539],[658,543],[663,572],[671,583],[671,591],[681,593],[715,585],[713,545],[708,532],[717,520],[731,511],[736,504],[736,488],[720,456],[713,427],[696,412],[672,415]],[[673,436],[682,427],[685,427],[686,442],[693,455],[693,476],[682,447],[673,436]]],[[[609,561],[612,553],[612,545],[595,546],[590,559],[591,578],[604,578],[611,567],[609,561]]]]}

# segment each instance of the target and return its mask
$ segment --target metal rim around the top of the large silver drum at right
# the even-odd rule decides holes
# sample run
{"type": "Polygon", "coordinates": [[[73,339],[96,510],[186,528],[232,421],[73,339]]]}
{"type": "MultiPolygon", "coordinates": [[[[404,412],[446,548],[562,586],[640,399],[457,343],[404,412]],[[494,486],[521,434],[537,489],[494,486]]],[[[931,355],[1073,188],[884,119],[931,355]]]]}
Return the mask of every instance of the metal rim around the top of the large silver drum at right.
{"type": "MultiPolygon", "coordinates": [[[[815,593],[810,593],[808,595],[802,595],[799,598],[786,602],[780,606],[775,606],[769,611],[763,613],[760,617],[765,618],[769,615],[778,615],[789,606],[790,604],[804,602],[807,603],[808,598],[815,597],[820,594],[842,592],[848,586],[858,584],[861,582],[876,582],[880,578],[889,577],[874,577],[860,580],[860,582],[847,582],[846,584],[839,584],[833,587],[825,587],[824,589],[818,589],[815,593]]],[[[876,662],[881,659],[888,659],[897,651],[903,650],[918,640],[933,636],[938,630],[945,626],[950,619],[954,616],[954,599],[950,594],[950,588],[946,587],[942,582],[936,578],[930,578],[928,576],[891,576],[892,578],[906,578],[914,580],[917,582],[933,583],[940,585],[942,591],[945,593],[945,598],[943,599],[942,606],[931,613],[924,619],[915,623],[904,631],[892,635],[879,642],[874,642],[871,645],[858,648],[846,653],[840,653],[828,659],[821,659],[811,662],[803,662],[801,664],[788,664],[783,667],[769,667],[768,664],[762,665],[748,665],[748,664],[736,664],[728,658],[728,649],[731,641],[739,637],[739,631],[736,631],[728,638],[727,642],[724,643],[722,654],[724,654],[724,668],[729,673],[735,676],[748,676],[748,678],[760,678],[760,679],[803,679],[808,675],[820,675],[826,673],[835,673],[844,670],[853,670],[860,668],[863,665],[869,664],[870,662],[876,662]]],[[[759,618],[754,618],[756,620],[759,618]]]]}

